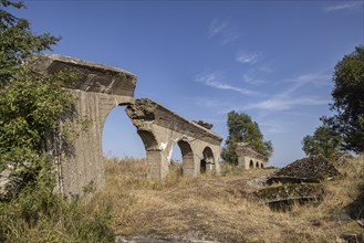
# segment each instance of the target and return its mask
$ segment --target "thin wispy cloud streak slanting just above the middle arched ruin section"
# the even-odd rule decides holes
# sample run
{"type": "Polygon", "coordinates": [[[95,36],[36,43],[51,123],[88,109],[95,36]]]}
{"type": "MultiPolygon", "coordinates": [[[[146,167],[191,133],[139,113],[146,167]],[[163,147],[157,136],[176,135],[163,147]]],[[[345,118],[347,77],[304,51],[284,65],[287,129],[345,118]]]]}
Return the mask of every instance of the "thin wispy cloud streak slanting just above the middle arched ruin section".
{"type": "Polygon", "coordinates": [[[196,80],[196,82],[202,83],[207,86],[218,88],[218,89],[233,91],[233,92],[238,92],[242,95],[251,95],[251,96],[259,95],[258,92],[237,87],[237,86],[225,83],[225,81],[223,81],[225,78],[221,73],[216,73],[216,72],[202,73],[200,75],[197,75],[195,80],[196,80]]]}

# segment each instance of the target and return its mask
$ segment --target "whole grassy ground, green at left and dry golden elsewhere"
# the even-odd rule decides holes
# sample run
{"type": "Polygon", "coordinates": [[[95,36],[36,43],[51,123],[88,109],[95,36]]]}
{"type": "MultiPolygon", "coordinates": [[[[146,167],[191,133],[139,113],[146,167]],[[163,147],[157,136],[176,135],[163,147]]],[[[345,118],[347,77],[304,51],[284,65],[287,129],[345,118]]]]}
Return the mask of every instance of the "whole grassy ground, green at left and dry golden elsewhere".
{"type": "Polygon", "coordinates": [[[183,177],[178,163],[163,180],[147,178],[144,159],[106,159],[106,187],[87,202],[67,202],[39,184],[0,204],[0,242],[113,242],[148,236],[219,242],[343,242],[362,234],[364,158],[339,165],[320,205],[273,212],[254,201],[252,183],[272,170],[225,169],[222,176],[183,177]],[[355,214],[356,213],[356,214],[355,214]]]}

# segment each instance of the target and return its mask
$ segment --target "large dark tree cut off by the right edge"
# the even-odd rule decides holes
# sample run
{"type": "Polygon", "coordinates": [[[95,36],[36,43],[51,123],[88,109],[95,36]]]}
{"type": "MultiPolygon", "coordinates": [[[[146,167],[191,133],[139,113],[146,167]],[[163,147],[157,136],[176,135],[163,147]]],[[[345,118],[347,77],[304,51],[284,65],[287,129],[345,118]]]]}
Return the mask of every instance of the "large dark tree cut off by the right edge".
{"type": "Polygon", "coordinates": [[[343,137],[343,148],[364,151],[364,46],[345,55],[335,66],[331,110],[333,117],[324,117],[331,129],[343,137]]]}

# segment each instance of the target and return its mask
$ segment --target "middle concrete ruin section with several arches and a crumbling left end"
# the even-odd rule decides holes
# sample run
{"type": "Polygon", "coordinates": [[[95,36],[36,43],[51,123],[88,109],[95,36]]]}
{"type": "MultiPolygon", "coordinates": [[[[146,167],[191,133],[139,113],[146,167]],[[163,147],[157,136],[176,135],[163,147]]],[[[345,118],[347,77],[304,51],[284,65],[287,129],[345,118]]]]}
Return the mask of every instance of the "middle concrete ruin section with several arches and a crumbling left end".
{"type": "Polygon", "coordinates": [[[137,127],[147,151],[150,178],[167,176],[176,144],[181,151],[185,176],[220,172],[218,158],[222,138],[214,131],[148,98],[136,99],[135,104],[127,106],[126,113],[137,127]]]}

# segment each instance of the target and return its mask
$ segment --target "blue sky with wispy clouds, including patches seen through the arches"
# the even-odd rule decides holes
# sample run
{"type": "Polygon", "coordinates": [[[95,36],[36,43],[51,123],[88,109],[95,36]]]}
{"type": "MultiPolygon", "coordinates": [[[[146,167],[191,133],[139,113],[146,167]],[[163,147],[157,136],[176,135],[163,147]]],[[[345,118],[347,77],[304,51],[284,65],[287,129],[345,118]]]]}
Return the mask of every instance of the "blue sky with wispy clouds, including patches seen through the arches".
{"type": "MultiPolygon", "coordinates": [[[[332,115],[334,66],[364,43],[363,2],[25,0],[13,12],[34,33],[62,36],[54,53],[136,74],[136,98],[222,138],[229,110],[249,114],[272,141],[270,166],[282,167],[304,157],[303,137],[332,115]]],[[[104,155],[143,158],[124,108],[107,116],[104,155]]]]}

